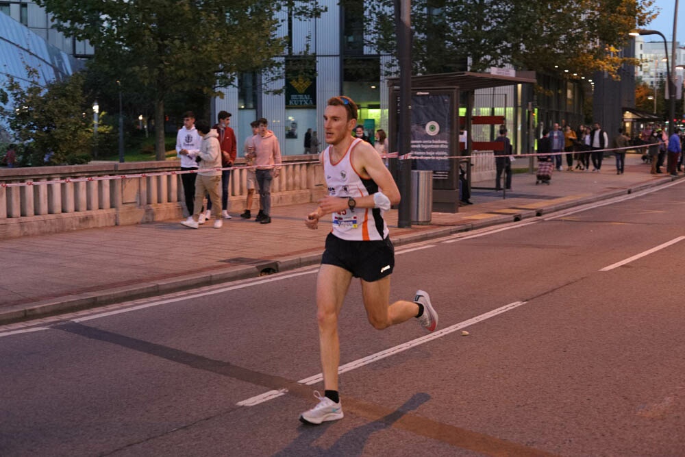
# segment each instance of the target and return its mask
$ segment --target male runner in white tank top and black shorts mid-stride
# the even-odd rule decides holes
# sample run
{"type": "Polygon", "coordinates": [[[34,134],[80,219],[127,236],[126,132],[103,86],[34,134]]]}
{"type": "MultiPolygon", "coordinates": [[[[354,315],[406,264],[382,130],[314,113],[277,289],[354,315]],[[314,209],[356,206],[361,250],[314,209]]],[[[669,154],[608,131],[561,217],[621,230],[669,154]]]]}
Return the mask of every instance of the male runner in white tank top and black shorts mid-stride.
{"type": "Polygon", "coordinates": [[[319,200],[319,207],[305,220],[307,227],[316,229],[326,214],[332,214],[333,219],[316,279],[325,391],[323,396],[315,392],[319,404],[300,416],[301,421],[312,424],[343,419],[338,393],[338,316],[353,277],[361,280],[366,316],[374,328],[388,328],[412,317],[429,332],[438,325],[438,314],[424,291],[417,291],[414,301],[389,304],[395,250],[383,212],[399,202],[400,194],[373,146],[350,135],[357,122],[356,104],[348,97],[333,97],[328,100],[323,120],[329,147],[319,158],[329,195],[319,200]]]}

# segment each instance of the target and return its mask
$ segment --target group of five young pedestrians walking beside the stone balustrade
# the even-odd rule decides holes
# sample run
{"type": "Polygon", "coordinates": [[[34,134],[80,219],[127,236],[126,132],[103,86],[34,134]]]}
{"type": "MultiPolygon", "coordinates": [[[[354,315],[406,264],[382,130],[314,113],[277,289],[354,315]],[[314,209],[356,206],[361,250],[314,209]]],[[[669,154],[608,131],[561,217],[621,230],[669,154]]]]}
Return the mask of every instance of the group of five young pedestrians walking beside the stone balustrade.
{"type": "MultiPolygon", "coordinates": [[[[234,130],[229,127],[231,114],[221,111],[218,123],[212,127],[206,121],[195,120],[188,111],[183,127],[176,136],[176,153],[181,160],[181,175],[188,209],[186,227],[197,229],[214,217],[214,228],[223,226],[223,219],[232,219],[228,212],[229,182],[237,156],[234,130]],[[205,198],[207,206],[203,205],[205,198]]],[[[243,151],[247,165],[247,198],[242,219],[251,219],[253,195],[260,193],[260,210],[255,220],[271,223],[271,183],[281,169],[281,150],[268,121],[261,118],[251,123],[252,135],[245,139],[243,151]]]]}

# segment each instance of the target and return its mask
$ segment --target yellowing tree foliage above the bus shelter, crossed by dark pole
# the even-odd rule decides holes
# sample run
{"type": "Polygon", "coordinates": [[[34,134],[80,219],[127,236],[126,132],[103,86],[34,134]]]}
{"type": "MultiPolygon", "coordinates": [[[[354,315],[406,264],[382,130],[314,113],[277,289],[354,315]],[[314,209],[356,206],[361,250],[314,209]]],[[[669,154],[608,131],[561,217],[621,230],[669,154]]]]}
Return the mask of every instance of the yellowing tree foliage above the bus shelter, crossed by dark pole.
{"type": "MultiPolygon", "coordinates": [[[[355,0],[343,0],[353,2],[355,0]]],[[[365,3],[369,45],[395,54],[393,0],[365,3]]],[[[616,75],[653,0],[412,0],[414,73],[516,69],[616,75]]]]}

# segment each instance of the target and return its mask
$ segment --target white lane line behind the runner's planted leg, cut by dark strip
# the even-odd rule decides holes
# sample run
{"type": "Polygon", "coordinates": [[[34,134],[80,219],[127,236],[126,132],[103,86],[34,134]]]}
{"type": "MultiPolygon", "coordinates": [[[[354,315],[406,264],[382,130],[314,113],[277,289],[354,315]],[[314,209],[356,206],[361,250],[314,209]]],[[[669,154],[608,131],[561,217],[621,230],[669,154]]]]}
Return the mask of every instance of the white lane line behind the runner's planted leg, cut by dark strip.
{"type": "MultiPolygon", "coordinates": [[[[364,358],[360,358],[357,360],[354,360],[353,362],[346,363],[345,365],[341,365],[338,368],[338,373],[347,373],[347,371],[352,371],[354,369],[358,369],[360,367],[364,367],[364,365],[369,365],[370,363],[376,362],[377,360],[381,360],[386,357],[393,356],[395,354],[399,354],[400,352],[406,351],[407,349],[412,349],[412,347],[416,347],[419,345],[423,345],[424,343],[428,343],[429,341],[433,341],[436,338],[440,338],[442,336],[449,335],[453,332],[456,332],[457,330],[461,330],[462,328],[469,327],[469,325],[473,325],[475,323],[484,321],[486,319],[490,319],[490,317],[495,317],[498,314],[502,314],[503,312],[511,311],[515,308],[518,308],[521,305],[525,305],[527,302],[526,301],[514,301],[514,303],[510,303],[508,305],[502,306],[501,308],[497,308],[492,311],[488,311],[484,314],[480,314],[479,316],[473,317],[467,321],[462,321],[460,323],[456,323],[454,325],[450,325],[449,327],[443,328],[442,330],[437,330],[436,332],[433,332],[431,334],[427,334],[426,336],[421,336],[421,338],[416,338],[415,340],[412,341],[407,341],[406,343],[402,343],[401,345],[397,345],[394,347],[390,347],[389,349],[386,349],[384,351],[377,352],[375,354],[371,354],[370,356],[366,356],[364,358]]],[[[323,380],[323,374],[319,373],[318,375],[313,375],[310,376],[309,378],[304,378],[303,380],[297,381],[298,384],[306,384],[308,386],[312,384],[316,384],[317,382],[320,382],[323,380]]],[[[251,397],[245,400],[242,400],[238,403],[236,403],[237,406],[255,406],[260,403],[268,402],[269,400],[275,399],[277,397],[280,397],[282,395],[285,395],[288,392],[288,389],[282,388],[278,390],[273,390],[269,392],[262,393],[261,395],[256,395],[255,397],[251,397]]]]}

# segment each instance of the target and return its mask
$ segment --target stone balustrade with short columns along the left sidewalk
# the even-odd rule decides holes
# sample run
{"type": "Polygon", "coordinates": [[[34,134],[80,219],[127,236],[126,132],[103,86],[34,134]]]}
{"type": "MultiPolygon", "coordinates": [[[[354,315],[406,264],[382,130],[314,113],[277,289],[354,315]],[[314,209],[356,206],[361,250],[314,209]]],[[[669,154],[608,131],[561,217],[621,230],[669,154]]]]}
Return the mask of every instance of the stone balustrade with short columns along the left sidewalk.
{"type": "MultiPolygon", "coordinates": [[[[325,194],[323,168],[317,156],[287,156],[283,160],[281,175],[271,189],[274,206],[316,201],[325,194]]],[[[244,164],[238,159],[235,165],[244,164]]],[[[178,170],[177,160],[0,169],[0,239],[181,220],[187,211],[181,178],[174,173],[178,170]],[[149,176],[152,173],[164,174],[149,176]],[[121,178],[140,174],[145,176],[121,178]],[[6,186],[10,183],[31,184],[6,186]]],[[[245,209],[246,181],[247,169],[233,171],[229,186],[232,212],[245,209]]],[[[253,209],[258,205],[257,195],[253,209]]]]}

